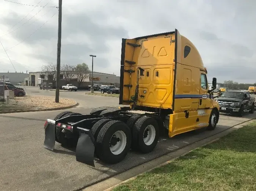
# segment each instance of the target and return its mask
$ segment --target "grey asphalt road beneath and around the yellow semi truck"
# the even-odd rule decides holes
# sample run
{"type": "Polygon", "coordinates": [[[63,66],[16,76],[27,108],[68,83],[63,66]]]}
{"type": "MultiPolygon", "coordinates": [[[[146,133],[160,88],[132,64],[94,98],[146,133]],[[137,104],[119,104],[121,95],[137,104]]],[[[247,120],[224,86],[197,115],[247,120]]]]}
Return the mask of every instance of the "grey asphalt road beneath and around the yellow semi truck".
{"type": "MultiPolygon", "coordinates": [[[[68,98],[75,93],[79,92],[61,92],[61,96],[68,98]]],[[[78,97],[77,99],[82,100],[83,98],[86,102],[96,102],[96,105],[99,104],[98,102],[111,105],[110,103],[115,102],[115,99],[118,100],[115,97],[113,101],[112,97],[97,96],[96,98],[96,96],[82,93],[75,96],[78,97]],[[98,101],[101,98],[103,100],[98,101]],[[108,101],[108,99],[112,101],[108,101]]],[[[79,100],[77,101],[79,102],[79,100]]],[[[84,107],[92,107],[91,103],[86,102],[82,103],[84,107]]],[[[91,109],[73,108],[69,111],[87,114],[91,109]]],[[[93,168],[77,162],[74,149],[63,148],[59,143],[56,143],[55,151],[49,151],[43,147],[44,121],[47,118],[53,119],[59,112],[0,114],[2,122],[0,128],[0,190],[77,190],[212,136],[231,126],[256,118],[256,112],[245,114],[242,118],[221,115],[214,131],[188,132],[173,138],[168,138],[167,135],[161,136],[159,143],[151,153],[140,154],[130,151],[125,160],[115,165],[106,165],[95,159],[96,167],[93,168]]]]}

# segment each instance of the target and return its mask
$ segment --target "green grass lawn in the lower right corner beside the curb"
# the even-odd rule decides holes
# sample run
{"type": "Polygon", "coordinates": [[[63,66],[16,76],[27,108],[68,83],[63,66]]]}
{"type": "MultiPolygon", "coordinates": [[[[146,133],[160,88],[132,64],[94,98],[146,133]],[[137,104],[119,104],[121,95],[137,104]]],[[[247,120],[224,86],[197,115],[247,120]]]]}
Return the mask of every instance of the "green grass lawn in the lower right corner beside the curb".
{"type": "Polygon", "coordinates": [[[197,148],[112,191],[256,190],[256,123],[197,148]]]}

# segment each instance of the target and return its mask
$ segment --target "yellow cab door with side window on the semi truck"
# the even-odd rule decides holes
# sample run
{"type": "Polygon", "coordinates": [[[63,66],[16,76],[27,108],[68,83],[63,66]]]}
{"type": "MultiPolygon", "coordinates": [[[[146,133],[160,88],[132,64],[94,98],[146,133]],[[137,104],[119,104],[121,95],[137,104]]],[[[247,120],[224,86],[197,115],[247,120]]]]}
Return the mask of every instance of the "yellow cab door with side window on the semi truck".
{"type": "Polygon", "coordinates": [[[210,99],[208,91],[208,83],[207,83],[207,77],[206,72],[200,71],[200,97],[199,97],[199,104],[198,109],[205,109],[210,108],[212,104],[212,99],[210,99]]]}

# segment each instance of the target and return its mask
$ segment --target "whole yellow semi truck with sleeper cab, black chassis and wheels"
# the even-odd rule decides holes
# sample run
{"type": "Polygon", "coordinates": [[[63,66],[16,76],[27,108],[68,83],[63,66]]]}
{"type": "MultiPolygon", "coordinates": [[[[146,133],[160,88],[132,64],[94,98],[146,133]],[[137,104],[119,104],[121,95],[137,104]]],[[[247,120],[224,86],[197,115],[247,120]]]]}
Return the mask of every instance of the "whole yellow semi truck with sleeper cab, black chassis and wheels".
{"type": "Polygon", "coordinates": [[[130,148],[143,153],[157,145],[159,129],[169,137],[199,128],[214,130],[219,105],[209,90],[207,70],[190,40],[173,32],[123,39],[119,108],[90,114],[62,112],[47,119],[44,146],[76,145],[76,159],[94,166],[124,159],[130,148]]]}

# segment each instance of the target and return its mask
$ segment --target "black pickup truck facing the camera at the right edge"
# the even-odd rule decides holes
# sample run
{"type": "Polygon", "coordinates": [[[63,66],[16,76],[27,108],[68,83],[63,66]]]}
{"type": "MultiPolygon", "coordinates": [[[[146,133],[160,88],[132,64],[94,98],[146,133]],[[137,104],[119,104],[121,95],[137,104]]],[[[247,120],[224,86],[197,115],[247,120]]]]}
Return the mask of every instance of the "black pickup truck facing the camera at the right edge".
{"type": "Polygon", "coordinates": [[[246,91],[225,91],[215,100],[220,105],[220,112],[243,116],[243,112],[254,113],[255,97],[246,91]]]}

